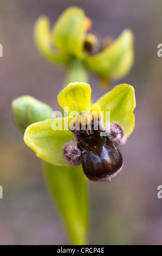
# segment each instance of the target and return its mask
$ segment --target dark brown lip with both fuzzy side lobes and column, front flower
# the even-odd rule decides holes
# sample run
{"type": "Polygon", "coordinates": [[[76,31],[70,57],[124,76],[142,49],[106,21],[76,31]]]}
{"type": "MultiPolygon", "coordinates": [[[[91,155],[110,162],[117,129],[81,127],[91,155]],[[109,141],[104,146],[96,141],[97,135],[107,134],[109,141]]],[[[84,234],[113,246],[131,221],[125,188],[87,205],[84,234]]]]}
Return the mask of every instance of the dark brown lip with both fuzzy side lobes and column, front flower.
{"type": "Polygon", "coordinates": [[[88,113],[83,117],[80,114],[73,131],[75,140],[64,144],[62,153],[70,166],[82,164],[89,180],[111,181],[123,165],[121,153],[116,147],[125,143],[125,132],[120,124],[103,126],[99,119],[88,113]],[[82,127],[83,120],[87,120],[85,129],[82,127]]]}

